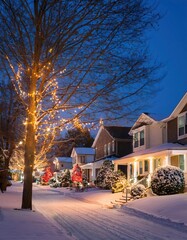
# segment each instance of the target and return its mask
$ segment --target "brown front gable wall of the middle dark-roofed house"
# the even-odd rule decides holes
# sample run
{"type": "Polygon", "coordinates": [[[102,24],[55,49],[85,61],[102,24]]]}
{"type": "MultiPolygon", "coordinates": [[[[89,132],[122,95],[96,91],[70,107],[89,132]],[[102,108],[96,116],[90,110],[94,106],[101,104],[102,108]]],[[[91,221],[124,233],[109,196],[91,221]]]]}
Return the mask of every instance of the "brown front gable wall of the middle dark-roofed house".
{"type": "Polygon", "coordinates": [[[105,129],[102,129],[101,134],[97,140],[97,143],[95,145],[96,149],[96,160],[104,158],[104,145],[113,141],[113,138],[108,134],[108,132],[105,129]]]}

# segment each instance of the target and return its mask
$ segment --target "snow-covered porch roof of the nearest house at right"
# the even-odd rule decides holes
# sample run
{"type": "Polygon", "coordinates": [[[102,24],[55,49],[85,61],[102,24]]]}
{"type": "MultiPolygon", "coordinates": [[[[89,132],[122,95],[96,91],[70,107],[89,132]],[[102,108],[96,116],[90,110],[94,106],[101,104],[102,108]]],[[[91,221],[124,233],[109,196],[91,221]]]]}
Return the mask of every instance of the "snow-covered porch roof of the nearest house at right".
{"type": "MultiPolygon", "coordinates": [[[[187,150],[187,145],[181,145],[178,143],[164,143],[152,148],[140,150],[138,152],[134,152],[131,154],[126,155],[125,157],[122,157],[120,159],[127,159],[131,157],[136,157],[136,156],[141,156],[141,155],[147,155],[151,153],[157,153],[157,152],[162,152],[162,151],[167,151],[167,150],[187,150]]],[[[117,160],[120,160],[117,159],[117,160]]]]}

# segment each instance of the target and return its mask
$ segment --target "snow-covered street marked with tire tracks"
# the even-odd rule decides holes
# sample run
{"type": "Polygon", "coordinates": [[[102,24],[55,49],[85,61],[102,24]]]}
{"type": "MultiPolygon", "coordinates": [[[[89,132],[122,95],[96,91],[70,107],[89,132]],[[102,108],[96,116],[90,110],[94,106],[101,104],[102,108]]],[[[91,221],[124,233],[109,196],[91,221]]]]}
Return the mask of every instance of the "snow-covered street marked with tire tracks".
{"type": "Polygon", "coordinates": [[[35,205],[72,239],[186,240],[186,234],[181,233],[180,229],[173,229],[172,225],[166,226],[121,209],[103,209],[101,205],[56,193],[50,190],[36,192],[35,205]]]}

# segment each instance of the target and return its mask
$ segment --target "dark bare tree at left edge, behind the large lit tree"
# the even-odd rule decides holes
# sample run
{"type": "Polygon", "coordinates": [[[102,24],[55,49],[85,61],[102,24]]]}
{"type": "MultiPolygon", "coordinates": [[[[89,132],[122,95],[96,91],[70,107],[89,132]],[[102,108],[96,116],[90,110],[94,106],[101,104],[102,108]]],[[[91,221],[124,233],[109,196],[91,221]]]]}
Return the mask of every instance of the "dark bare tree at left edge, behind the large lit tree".
{"type": "Polygon", "coordinates": [[[16,101],[13,86],[6,78],[6,81],[0,83],[0,156],[5,179],[7,179],[13,150],[19,139],[23,137],[21,135],[23,128],[19,123],[21,111],[22,107],[16,101]]]}

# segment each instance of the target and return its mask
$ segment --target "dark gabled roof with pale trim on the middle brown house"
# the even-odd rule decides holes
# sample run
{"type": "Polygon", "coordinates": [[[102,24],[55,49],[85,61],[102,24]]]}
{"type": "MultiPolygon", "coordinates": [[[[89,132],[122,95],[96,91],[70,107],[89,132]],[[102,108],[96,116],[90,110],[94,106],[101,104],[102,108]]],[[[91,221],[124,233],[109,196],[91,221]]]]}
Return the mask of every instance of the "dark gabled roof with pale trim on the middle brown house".
{"type": "Polygon", "coordinates": [[[95,144],[96,144],[102,130],[106,130],[113,139],[131,139],[131,136],[128,134],[130,129],[131,129],[130,127],[101,125],[99,128],[99,131],[95,137],[95,140],[92,144],[92,147],[95,147],[95,144]]]}

